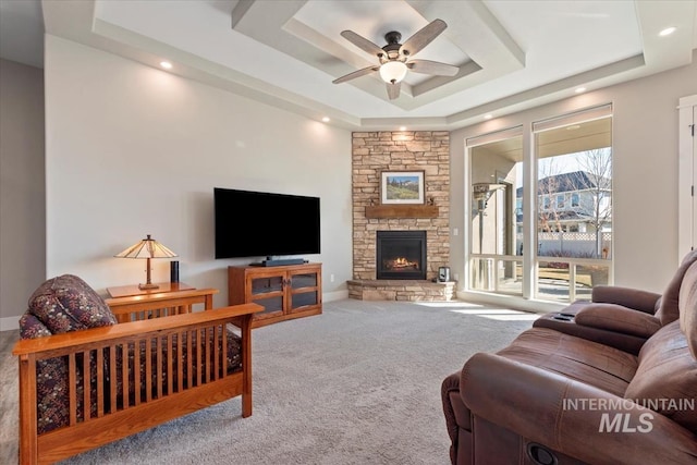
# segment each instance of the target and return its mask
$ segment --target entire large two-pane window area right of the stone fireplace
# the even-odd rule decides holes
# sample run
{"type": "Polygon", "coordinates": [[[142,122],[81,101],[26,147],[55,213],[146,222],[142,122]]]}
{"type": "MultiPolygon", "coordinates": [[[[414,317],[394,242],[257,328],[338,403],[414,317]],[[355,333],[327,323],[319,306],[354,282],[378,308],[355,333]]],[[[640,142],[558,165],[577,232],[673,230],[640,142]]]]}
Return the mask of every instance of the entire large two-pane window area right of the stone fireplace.
{"type": "Polygon", "coordinates": [[[531,146],[523,135],[466,140],[467,289],[589,298],[612,283],[612,107],[534,122],[531,146]]]}

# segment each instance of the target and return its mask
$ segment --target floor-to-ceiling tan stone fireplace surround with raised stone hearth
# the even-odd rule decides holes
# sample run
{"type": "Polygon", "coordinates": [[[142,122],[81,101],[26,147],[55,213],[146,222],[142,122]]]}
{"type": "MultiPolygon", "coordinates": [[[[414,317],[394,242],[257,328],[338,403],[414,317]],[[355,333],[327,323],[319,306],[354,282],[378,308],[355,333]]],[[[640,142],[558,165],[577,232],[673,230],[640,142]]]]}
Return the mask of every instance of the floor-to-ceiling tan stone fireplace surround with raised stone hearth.
{"type": "MultiPolygon", "coordinates": [[[[447,131],[353,133],[353,280],[348,295],[365,299],[447,301],[454,283],[435,282],[450,260],[450,134],[447,131]],[[382,171],[423,171],[424,205],[381,205],[382,171]],[[424,232],[418,276],[378,273],[378,232],[424,232]]],[[[399,257],[396,257],[399,258],[399,257]]],[[[409,260],[409,257],[406,257],[409,260]]],[[[413,258],[413,257],[412,257],[413,258]]],[[[408,269],[414,265],[401,262],[408,269]]]]}

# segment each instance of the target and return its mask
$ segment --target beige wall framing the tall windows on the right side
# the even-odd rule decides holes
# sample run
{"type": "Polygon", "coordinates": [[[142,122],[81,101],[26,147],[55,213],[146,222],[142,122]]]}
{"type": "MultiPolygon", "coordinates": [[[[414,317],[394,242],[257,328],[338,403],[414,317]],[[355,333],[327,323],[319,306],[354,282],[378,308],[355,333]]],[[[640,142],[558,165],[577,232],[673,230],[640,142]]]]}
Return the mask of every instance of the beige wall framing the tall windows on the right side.
{"type": "MultiPolygon", "coordinates": [[[[693,64],[607,87],[451,134],[451,228],[465,230],[464,146],[475,135],[524,125],[582,108],[613,105],[615,284],[662,292],[677,256],[677,103],[697,90],[693,64]]],[[[526,139],[524,139],[525,143],[526,139]]],[[[452,237],[454,272],[464,276],[465,236],[452,237]]],[[[464,283],[460,283],[462,290],[464,283]]]]}

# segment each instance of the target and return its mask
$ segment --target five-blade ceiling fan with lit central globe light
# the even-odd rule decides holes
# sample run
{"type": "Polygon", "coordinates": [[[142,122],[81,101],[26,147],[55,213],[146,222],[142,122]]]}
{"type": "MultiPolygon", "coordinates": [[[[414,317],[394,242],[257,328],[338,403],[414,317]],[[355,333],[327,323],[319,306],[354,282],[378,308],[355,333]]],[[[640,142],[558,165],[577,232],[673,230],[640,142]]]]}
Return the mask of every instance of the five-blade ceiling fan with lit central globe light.
{"type": "Polygon", "coordinates": [[[380,64],[354,71],[353,73],[338,77],[332,82],[334,84],[341,84],[378,71],[380,73],[380,77],[387,84],[388,97],[390,100],[393,100],[400,96],[401,83],[406,76],[406,72],[408,70],[421,74],[454,76],[457,74],[460,69],[452,64],[430,60],[411,60],[414,54],[429,45],[436,37],[445,30],[445,27],[448,27],[448,25],[444,21],[433,20],[416,32],[412,37],[406,39],[404,44],[400,44],[402,34],[396,30],[392,30],[384,35],[384,39],[388,44],[382,48],[353,30],[343,30],[341,33],[342,37],[359,49],[365,50],[370,54],[375,54],[380,64]]]}

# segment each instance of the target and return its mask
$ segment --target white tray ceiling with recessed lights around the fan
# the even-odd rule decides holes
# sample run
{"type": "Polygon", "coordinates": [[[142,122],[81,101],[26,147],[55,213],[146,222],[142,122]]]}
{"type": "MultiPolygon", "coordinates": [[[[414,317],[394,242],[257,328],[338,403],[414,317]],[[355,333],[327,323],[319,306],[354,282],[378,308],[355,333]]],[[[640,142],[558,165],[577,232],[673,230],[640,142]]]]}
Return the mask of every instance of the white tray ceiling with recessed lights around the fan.
{"type": "MultiPolygon", "coordinates": [[[[449,130],[689,64],[697,0],[45,0],[46,32],[351,129],[449,130]],[[377,64],[344,39],[402,42],[435,19],[448,28],[416,58],[455,77],[409,73],[389,100],[377,64]],[[677,29],[668,37],[658,33],[677,29]]],[[[0,0],[0,56],[41,65],[38,0],[0,0]],[[32,36],[38,37],[32,40],[32,36]],[[38,50],[38,51],[37,51],[38,50]]],[[[697,76],[695,77],[697,89],[697,76]]]]}

